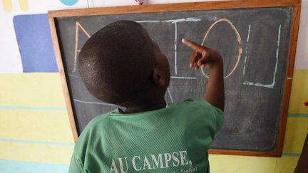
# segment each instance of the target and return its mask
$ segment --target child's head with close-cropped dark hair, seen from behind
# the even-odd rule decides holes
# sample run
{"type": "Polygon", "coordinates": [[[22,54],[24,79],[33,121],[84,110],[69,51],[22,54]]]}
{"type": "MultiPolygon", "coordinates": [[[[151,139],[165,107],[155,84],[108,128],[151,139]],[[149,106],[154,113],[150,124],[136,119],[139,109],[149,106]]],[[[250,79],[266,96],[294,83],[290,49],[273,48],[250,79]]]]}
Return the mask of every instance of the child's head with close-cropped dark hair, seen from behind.
{"type": "Polygon", "coordinates": [[[78,58],[86,88],[96,98],[123,107],[162,100],[169,63],[143,26],[116,21],[86,41],[78,58]]]}

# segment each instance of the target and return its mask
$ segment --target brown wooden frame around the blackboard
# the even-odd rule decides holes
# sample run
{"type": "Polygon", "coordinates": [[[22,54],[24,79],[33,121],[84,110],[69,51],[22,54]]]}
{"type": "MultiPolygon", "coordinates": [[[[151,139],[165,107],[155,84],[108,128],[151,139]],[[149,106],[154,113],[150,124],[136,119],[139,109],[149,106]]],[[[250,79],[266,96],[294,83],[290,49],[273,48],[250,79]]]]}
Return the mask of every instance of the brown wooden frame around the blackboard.
{"type": "Polygon", "coordinates": [[[76,123],[73,115],[73,108],[68,92],[68,84],[63,68],[63,60],[58,42],[58,36],[55,26],[55,19],[60,17],[70,16],[96,16],[104,14],[139,14],[148,12],[163,12],[163,11],[196,11],[196,10],[210,10],[210,9],[240,9],[240,8],[260,8],[260,7],[283,7],[292,6],[292,23],[289,40],[289,53],[287,57],[287,69],[284,82],[284,93],[282,97],[282,110],[279,116],[279,132],[277,136],[276,150],[272,152],[260,151],[242,151],[242,150],[214,150],[210,149],[210,154],[236,154],[236,155],[250,155],[250,156],[266,156],[266,157],[281,157],[282,147],[284,142],[284,132],[287,122],[287,112],[289,107],[289,97],[291,93],[292,77],[294,71],[294,60],[297,48],[297,36],[299,30],[299,14],[301,8],[301,0],[246,0],[246,1],[207,1],[195,3],[179,3],[179,4],[155,4],[145,6],[117,6],[117,7],[103,7],[93,9],[72,9],[48,11],[48,21],[51,29],[51,38],[53,41],[53,48],[58,65],[58,72],[60,73],[63,93],[68,109],[68,117],[71,123],[71,130],[73,132],[73,139],[78,140],[78,133],[76,130],[76,123]]]}

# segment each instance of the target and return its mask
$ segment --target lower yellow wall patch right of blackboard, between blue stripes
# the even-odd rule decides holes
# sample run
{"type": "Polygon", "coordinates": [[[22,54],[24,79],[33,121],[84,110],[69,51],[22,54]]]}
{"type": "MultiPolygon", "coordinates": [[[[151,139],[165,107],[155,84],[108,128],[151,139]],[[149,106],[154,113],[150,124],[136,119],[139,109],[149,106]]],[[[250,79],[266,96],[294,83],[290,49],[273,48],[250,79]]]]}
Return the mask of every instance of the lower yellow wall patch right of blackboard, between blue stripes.
{"type": "Polygon", "coordinates": [[[308,132],[308,117],[288,117],[283,152],[301,153],[308,132]]]}

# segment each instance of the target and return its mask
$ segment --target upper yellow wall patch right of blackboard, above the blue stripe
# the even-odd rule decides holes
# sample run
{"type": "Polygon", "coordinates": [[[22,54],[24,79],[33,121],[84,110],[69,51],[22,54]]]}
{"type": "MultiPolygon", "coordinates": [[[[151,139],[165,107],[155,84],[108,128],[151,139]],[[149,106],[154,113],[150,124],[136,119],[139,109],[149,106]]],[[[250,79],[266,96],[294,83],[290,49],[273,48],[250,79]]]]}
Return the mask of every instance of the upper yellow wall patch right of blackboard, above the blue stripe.
{"type": "Polygon", "coordinates": [[[289,113],[308,114],[308,70],[294,70],[289,113]]]}

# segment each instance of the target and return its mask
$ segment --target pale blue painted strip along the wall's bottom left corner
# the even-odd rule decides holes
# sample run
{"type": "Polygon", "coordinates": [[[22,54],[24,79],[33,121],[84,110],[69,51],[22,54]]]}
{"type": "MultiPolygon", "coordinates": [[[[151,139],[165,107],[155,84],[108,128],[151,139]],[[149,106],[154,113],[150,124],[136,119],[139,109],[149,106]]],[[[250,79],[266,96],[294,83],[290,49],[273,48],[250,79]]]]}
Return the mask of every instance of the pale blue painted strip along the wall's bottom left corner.
{"type": "Polygon", "coordinates": [[[68,165],[39,162],[23,162],[0,159],[0,172],[5,173],[67,173],[68,165]]]}

